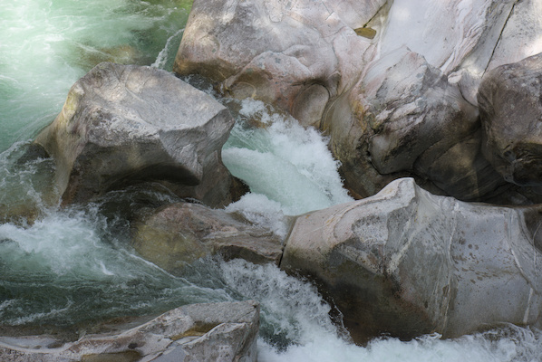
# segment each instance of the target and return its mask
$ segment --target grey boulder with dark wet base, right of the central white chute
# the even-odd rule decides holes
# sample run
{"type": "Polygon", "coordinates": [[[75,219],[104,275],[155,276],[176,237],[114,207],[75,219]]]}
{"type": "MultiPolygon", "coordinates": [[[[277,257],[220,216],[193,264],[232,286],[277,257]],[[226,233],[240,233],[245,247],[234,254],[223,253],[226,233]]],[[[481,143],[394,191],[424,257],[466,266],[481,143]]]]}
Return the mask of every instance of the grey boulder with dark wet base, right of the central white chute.
{"type": "Polygon", "coordinates": [[[362,196],[405,175],[463,200],[489,195],[505,182],[479,152],[479,127],[457,85],[405,47],[371,62],[324,119],[345,186],[362,196]]]}

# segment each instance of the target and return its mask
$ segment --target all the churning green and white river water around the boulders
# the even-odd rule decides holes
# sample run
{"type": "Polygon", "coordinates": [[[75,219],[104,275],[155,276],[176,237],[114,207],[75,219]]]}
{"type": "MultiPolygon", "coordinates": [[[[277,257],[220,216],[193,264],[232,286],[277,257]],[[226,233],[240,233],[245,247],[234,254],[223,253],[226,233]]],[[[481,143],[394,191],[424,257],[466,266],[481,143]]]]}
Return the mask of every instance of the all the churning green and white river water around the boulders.
{"type": "MultiPolygon", "coordinates": [[[[170,275],[131,250],[124,217],[130,207],[178,201],[160,189],[134,187],[64,209],[50,201],[51,160],[19,161],[30,139],[98,62],[170,70],[189,6],[184,0],[0,3],[0,332],[60,326],[78,336],[101,321],[181,304],[256,299],[264,362],[539,360],[540,332],[512,326],[453,340],[382,338],[355,346],[312,284],[272,265],[208,260],[182,277],[170,275]]],[[[237,114],[224,161],[251,189],[227,209],[284,235],[287,215],[349,200],[325,138],[261,102],[222,101],[237,114]]]]}

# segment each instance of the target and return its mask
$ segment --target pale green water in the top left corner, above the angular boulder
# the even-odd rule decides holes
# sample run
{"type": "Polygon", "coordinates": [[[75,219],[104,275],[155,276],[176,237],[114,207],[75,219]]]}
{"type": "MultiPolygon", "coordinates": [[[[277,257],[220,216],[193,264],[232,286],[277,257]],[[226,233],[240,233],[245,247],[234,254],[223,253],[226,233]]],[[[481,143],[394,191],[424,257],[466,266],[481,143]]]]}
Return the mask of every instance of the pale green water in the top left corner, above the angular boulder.
{"type": "Polygon", "coordinates": [[[187,0],[13,0],[0,3],[0,151],[49,124],[70,87],[103,61],[170,69],[187,0]],[[162,52],[163,56],[166,52],[162,52]]]}

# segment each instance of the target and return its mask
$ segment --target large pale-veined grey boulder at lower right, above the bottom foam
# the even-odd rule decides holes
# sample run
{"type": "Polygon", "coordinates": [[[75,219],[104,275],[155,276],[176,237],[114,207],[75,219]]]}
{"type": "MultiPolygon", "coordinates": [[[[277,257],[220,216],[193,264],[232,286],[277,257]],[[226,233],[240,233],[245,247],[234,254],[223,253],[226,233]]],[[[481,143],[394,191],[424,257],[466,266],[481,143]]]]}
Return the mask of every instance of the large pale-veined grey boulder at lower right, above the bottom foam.
{"type": "Polygon", "coordinates": [[[467,204],[402,178],[298,216],[281,268],[319,281],[358,340],[541,326],[542,207],[467,204]]]}

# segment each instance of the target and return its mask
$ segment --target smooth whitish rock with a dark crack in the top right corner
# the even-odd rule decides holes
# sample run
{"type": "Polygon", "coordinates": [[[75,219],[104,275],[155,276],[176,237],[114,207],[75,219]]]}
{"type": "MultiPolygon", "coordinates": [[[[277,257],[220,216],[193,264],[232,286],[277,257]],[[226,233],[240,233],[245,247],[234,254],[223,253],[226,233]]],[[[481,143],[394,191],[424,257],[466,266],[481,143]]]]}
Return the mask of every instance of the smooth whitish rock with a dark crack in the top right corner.
{"type": "Polygon", "coordinates": [[[407,46],[420,53],[477,105],[487,71],[542,52],[541,6],[538,0],[395,0],[381,51],[407,46]]]}

